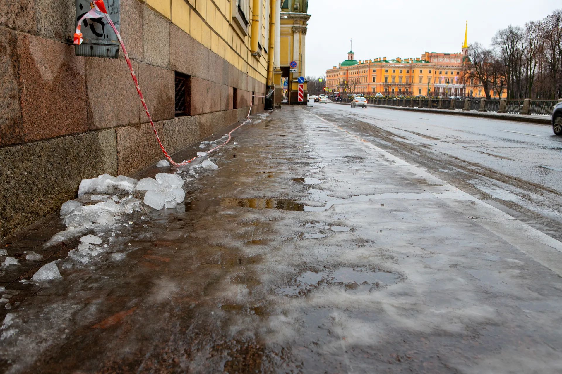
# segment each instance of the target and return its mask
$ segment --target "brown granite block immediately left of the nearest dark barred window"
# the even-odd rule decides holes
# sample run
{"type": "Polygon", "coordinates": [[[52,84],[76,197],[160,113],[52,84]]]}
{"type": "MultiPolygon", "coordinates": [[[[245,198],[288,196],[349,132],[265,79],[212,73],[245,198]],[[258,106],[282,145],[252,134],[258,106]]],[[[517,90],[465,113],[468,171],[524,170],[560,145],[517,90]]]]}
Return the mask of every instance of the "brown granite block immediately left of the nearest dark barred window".
{"type": "MultiPolygon", "coordinates": [[[[152,121],[174,118],[174,72],[139,63],[138,80],[152,121]]],[[[148,122],[142,105],[139,118],[148,122]]]]}

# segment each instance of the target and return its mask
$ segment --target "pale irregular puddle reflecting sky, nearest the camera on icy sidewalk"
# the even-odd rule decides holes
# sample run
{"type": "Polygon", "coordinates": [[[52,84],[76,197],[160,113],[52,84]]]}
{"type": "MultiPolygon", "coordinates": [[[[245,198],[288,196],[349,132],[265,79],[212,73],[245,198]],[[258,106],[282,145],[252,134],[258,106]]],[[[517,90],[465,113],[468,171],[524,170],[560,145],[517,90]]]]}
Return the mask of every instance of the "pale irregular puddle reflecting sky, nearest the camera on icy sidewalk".
{"type": "Polygon", "coordinates": [[[369,293],[396,284],[404,279],[400,274],[365,267],[338,267],[327,270],[307,270],[295,278],[290,285],[280,287],[277,293],[297,297],[316,288],[343,287],[346,292],[369,293]]]}

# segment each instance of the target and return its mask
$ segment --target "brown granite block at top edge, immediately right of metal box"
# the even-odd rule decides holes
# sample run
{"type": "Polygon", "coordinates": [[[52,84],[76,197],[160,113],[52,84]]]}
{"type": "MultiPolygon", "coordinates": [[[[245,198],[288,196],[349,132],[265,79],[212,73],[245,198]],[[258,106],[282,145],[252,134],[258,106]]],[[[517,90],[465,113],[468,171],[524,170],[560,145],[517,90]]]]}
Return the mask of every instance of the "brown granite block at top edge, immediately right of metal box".
{"type": "Polygon", "coordinates": [[[121,37],[129,57],[142,60],[143,49],[143,4],[138,0],[121,0],[121,37]]]}

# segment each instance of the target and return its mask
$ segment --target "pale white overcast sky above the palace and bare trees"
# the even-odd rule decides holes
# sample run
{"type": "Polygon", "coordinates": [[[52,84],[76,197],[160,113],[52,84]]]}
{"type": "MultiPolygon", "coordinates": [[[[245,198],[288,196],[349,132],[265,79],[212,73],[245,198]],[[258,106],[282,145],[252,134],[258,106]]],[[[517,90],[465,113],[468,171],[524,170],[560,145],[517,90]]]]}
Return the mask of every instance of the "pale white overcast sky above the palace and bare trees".
{"type": "Polygon", "coordinates": [[[497,30],[523,26],[562,8],[556,0],[309,0],[306,75],[324,75],[347,58],[420,57],[460,52],[468,20],[468,43],[489,45],[497,30]]]}

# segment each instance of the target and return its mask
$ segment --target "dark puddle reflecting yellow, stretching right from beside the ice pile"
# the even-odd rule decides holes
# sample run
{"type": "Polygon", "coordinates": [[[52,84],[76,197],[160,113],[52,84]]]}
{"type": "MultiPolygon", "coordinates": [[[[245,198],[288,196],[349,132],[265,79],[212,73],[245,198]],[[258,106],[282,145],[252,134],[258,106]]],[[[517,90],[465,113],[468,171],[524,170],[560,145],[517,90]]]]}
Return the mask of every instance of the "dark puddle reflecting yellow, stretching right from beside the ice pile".
{"type": "Polygon", "coordinates": [[[252,209],[277,209],[305,211],[304,204],[290,199],[275,198],[233,198],[220,197],[211,200],[192,200],[185,203],[185,210],[203,211],[211,206],[246,207],[252,209]]]}

